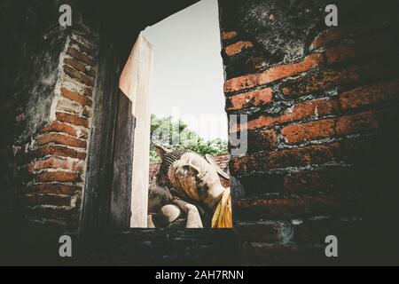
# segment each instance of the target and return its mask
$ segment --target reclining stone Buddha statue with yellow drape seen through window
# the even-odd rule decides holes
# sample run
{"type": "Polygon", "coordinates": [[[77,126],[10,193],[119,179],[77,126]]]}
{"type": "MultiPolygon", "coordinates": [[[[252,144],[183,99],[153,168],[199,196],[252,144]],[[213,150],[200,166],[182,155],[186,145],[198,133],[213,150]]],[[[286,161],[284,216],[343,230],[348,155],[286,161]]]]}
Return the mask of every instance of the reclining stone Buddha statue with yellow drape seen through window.
{"type": "Polygon", "coordinates": [[[150,186],[149,224],[153,227],[230,228],[231,192],[221,177],[229,179],[211,155],[170,151],[153,143],[162,158],[155,183],[150,186]]]}

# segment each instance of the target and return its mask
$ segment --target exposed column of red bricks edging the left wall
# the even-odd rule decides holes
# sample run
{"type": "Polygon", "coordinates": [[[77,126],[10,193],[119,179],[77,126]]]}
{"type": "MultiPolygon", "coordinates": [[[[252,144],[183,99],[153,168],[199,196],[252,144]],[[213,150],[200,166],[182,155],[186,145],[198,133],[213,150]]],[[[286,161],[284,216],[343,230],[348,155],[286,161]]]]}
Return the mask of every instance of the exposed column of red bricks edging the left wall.
{"type": "Polygon", "coordinates": [[[26,216],[33,225],[77,229],[96,76],[94,43],[87,34],[66,37],[50,122],[27,146],[26,216]]]}

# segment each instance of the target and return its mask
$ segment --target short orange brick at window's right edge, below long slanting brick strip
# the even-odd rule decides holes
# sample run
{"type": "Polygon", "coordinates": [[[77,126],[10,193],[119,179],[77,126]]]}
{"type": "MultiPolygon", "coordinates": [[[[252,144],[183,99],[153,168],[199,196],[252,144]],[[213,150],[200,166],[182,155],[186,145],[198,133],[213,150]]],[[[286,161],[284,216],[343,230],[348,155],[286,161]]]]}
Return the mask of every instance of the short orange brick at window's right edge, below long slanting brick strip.
{"type": "Polygon", "coordinates": [[[226,110],[239,110],[246,107],[263,106],[270,103],[272,91],[270,88],[249,91],[226,99],[226,110]]]}

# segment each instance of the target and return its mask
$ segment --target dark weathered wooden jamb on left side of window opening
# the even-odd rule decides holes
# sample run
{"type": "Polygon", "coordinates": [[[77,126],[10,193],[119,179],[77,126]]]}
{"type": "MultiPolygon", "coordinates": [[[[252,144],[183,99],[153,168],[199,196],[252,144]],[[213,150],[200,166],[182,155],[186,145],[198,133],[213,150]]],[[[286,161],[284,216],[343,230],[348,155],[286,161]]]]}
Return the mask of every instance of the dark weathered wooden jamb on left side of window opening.
{"type": "MultiPolygon", "coordinates": [[[[130,227],[130,205],[136,118],[131,101],[118,86],[132,45],[127,39],[115,41],[105,30],[102,28],[103,35],[100,33],[93,128],[79,221],[79,235],[84,239],[97,233],[134,229],[130,227]]],[[[140,32],[133,32],[135,38],[140,32]]]]}

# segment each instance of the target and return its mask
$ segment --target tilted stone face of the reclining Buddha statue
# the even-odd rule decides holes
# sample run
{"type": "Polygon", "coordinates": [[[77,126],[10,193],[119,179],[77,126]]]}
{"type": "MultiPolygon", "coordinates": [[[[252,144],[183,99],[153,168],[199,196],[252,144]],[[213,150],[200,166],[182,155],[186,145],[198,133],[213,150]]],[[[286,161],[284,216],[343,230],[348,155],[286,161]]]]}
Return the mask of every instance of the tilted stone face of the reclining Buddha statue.
{"type": "Polygon", "coordinates": [[[209,190],[222,186],[215,167],[199,154],[186,153],[169,170],[172,185],[182,196],[195,201],[207,198],[209,190]]]}

